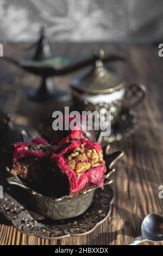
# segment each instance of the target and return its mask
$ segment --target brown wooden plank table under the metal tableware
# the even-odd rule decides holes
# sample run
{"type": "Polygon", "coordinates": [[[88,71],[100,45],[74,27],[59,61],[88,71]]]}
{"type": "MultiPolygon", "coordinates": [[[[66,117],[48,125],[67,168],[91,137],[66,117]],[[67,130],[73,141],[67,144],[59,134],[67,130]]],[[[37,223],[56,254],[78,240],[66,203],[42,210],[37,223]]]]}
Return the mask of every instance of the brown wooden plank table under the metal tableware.
{"type": "MultiPolygon", "coordinates": [[[[106,43],[58,43],[53,45],[53,50],[57,54],[75,56],[91,51],[92,46],[126,56],[128,64],[115,63],[112,67],[127,82],[142,83],[147,88],[145,101],[136,109],[139,129],[131,137],[111,144],[111,151],[125,152],[112,176],[111,186],[115,192],[112,214],[90,235],[49,241],[21,234],[0,215],[1,245],[123,245],[140,235],[141,221],[149,212],[163,211],[163,199],[158,197],[158,188],[163,185],[163,58],[158,57],[158,48],[106,43]]],[[[4,44],[4,54],[15,58],[24,56],[16,47],[4,44]]],[[[55,78],[56,85],[67,90],[73,75],[55,78]]],[[[51,117],[52,112],[62,106],[55,102],[46,106],[30,102],[26,97],[27,89],[37,86],[39,79],[2,59],[0,77],[0,107],[10,112],[17,124],[38,127],[40,121],[45,121],[45,115],[51,117]]]]}

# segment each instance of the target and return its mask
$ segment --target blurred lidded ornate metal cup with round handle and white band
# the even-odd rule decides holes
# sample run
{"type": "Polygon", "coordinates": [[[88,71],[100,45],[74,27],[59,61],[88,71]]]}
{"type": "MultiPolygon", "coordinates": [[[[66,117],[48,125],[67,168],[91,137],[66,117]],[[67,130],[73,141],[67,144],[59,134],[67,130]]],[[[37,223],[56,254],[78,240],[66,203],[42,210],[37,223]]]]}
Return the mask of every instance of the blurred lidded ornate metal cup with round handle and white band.
{"type": "Polygon", "coordinates": [[[70,86],[74,107],[78,111],[100,111],[104,115],[106,111],[110,111],[110,121],[115,123],[124,100],[132,101],[131,104],[128,103],[128,107],[134,107],[145,96],[145,88],[139,84],[127,87],[122,78],[104,67],[103,59],[104,51],[100,50],[99,59],[95,60],[91,69],[74,77],[70,86]]]}

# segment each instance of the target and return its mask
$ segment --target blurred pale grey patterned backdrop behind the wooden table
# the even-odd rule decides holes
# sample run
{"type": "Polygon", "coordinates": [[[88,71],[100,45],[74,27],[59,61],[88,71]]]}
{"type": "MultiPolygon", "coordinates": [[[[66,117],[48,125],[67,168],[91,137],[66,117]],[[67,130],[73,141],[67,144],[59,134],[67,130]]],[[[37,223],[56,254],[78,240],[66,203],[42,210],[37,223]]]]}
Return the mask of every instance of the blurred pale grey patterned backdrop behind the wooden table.
{"type": "Polygon", "coordinates": [[[163,39],[162,0],[0,0],[0,40],[34,41],[40,26],[52,41],[163,39]]]}

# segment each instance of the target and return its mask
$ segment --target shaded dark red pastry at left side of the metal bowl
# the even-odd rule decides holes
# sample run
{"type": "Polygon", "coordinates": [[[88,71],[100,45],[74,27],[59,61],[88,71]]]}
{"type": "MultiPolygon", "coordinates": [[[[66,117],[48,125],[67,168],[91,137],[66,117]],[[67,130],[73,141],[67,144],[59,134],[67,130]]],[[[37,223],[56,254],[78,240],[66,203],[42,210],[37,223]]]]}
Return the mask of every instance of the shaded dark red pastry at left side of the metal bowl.
{"type": "Polygon", "coordinates": [[[52,146],[45,139],[35,138],[30,143],[17,142],[14,147],[12,174],[36,180],[47,170],[52,146]]]}

